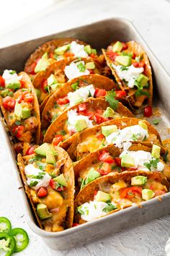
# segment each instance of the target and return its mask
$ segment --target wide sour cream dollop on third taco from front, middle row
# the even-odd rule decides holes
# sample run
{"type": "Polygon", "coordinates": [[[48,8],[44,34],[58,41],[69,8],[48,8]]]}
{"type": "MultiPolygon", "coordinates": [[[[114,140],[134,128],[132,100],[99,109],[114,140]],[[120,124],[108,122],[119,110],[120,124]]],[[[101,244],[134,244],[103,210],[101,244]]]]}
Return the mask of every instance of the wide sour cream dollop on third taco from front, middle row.
{"type": "Polygon", "coordinates": [[[106,137],[108,144],[113,143],[116,147],[122,148],[123,142],[141,140],[148,138],[148,130],[143,129],[140,125],[136,124],[124,129],[118,129],[117,132],[112,132],[106,137]]]}

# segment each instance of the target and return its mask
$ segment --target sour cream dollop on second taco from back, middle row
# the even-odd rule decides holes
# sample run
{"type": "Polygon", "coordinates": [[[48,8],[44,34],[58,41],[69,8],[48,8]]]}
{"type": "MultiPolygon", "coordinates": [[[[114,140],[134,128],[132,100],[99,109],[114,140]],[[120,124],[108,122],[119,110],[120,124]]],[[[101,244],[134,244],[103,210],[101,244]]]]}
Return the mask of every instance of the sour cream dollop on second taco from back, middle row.
{"type": "Polygon", "coordinates": [[[66,66],[64,69],[64,72],[66,74],[66,77],[68,77],[69,80],[75,78],[75,77],[80,77],[81,75],[84,74],[90,74],[88,69],[85,69],[84,71],[80,71],[79,67],[77,67],[79,64],[84,64],[84,61],[79,61],[79,62],[71,62],[69,66],[66,66]]]}

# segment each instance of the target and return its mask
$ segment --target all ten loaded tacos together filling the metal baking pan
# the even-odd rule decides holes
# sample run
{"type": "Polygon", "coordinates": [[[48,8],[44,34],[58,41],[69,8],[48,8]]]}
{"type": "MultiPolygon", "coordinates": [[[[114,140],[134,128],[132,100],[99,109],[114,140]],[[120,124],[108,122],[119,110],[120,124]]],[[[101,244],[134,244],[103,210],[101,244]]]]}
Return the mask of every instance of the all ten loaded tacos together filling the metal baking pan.
{"type": "Polygon", "coordinates": [[[24,72],[4,71],[1,111],[40,228],[62,231],[169,191],[161,137],[135,118],[152,95],[148,57],[134,41],[99,55],[55,39],[24,72]]]}

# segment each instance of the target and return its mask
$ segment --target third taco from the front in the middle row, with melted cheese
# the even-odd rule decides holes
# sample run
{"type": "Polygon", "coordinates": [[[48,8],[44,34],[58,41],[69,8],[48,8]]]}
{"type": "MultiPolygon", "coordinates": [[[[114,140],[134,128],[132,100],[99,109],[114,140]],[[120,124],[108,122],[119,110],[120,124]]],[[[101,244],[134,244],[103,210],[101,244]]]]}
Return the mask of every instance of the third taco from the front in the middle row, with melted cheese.
{"type": "Polygon", "coordinates": [[[99,124],[91,129],[86,129],[74,137],[72,143],[63,142],[62,148],[66,148],[73,161],[79,161],[89,153],[99,148],[113,144],[122,148],[123,142],[153,142],[161,145],[161,137],[156,129],[148,123],[136,118],[124,117],[99,124]]]}

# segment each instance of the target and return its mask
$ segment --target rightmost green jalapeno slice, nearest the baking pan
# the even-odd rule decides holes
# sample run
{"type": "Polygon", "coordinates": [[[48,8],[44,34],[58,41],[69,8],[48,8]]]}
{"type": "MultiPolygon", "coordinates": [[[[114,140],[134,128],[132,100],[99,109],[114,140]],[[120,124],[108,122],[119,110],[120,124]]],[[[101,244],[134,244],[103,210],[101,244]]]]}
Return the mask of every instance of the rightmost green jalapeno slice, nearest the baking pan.
{"type": "Polygon", "coordinates": [[[14,252],[21,252],[22,249],[27,247],[27,244],[29,243],[29,237],[27,235],[27,232],[24,231],[24,229],[20,229],[20,228],[12,229],[10,234],[14,236],[14,239],[16,242],[14,252]]]}

